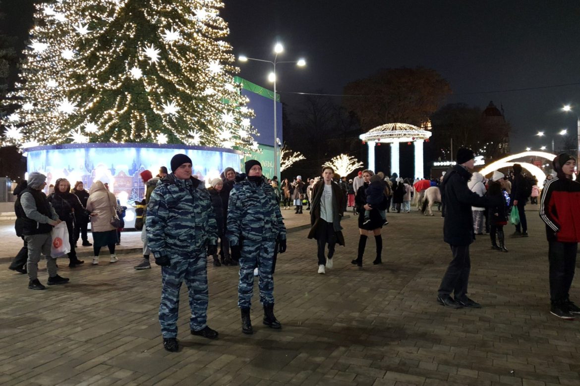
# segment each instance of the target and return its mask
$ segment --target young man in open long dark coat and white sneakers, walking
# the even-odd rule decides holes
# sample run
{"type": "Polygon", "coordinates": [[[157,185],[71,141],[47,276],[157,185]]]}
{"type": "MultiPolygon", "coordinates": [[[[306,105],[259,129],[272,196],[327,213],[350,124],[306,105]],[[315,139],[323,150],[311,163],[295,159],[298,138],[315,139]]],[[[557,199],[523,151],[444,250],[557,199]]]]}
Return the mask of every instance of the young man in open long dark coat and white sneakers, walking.
{"type": "Polygon", "coordinates": [[[322,168],[322,179],[312,189],[312,207],[310,210],[310,232],[308,238],[316,239],[318,246],[318,273],[325,274],[325,269],[332,269],[332,256],[335,246],[345,245],[340,220],[344,215],[345,196],[338,184],[332,181],[334,169],[322,168]],[[328,258],[325,256],[328,244],[328,258]]]}

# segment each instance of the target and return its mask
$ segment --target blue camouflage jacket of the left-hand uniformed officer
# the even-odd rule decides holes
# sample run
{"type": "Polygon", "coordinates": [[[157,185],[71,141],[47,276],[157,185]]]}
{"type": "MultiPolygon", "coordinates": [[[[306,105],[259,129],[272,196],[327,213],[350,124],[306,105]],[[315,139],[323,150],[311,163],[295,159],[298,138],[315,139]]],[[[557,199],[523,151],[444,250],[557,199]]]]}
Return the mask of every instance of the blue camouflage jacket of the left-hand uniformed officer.
{"type": "Polygon", "coordinates": [[[166,175],[147,205],[147,242],[155,256],[191,252],[217,244],[218,226],[204,184],[166,175]]]}

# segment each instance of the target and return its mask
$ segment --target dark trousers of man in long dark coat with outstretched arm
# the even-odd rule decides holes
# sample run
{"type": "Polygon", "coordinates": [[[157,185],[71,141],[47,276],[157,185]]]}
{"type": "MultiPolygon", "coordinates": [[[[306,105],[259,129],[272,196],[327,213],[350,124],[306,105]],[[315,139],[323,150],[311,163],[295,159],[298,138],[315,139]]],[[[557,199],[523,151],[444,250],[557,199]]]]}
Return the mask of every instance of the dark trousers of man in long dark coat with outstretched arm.
{"type": "Polygon", "coordinates": [[[449,263],[447,271],[441,280],[439,296],[451,295],[455,292],[456,300],[467,298],[467,282],[469,282],[469,271],[471,261],[469,259],[469,245],[451,245],[453,260],[449,263]]]}

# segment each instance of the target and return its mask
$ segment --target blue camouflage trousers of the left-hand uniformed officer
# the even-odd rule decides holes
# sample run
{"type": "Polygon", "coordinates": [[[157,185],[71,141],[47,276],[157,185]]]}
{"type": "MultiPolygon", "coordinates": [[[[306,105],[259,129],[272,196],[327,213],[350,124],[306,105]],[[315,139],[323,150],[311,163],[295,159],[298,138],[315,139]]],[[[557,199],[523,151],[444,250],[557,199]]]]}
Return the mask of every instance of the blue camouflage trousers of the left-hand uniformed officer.
{"type": "Polygon", "coordinates": [[[208,311],[208,258],[206,255],[205,250],[188,255],[173,255],[171,266],[161,267],[159,323],[164,338],[177,337],[179,291],[184,281],[189,290],[190,329],[198,331],[205,328],[208,311]]]}

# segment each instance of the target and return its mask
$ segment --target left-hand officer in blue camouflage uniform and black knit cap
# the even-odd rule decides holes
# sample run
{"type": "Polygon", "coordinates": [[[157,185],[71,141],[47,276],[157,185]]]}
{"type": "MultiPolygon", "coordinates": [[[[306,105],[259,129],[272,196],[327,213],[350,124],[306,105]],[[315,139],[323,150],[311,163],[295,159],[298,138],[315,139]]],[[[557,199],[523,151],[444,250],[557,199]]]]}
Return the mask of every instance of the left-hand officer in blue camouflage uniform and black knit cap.
{"type": "Polygon", "coordinates": [[[208,310],[207,256],[218,251],[218,227],[209,192],[191,177],[191,159],[177,154],[172,173],[151,193],[147,205],[147,241],[162,275],[159,322],[167,351],[179,350],[179,290],[185,281],[191,308],[190,330],[209,339],[218,332],[206,324],[208,310]]]}

